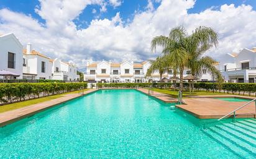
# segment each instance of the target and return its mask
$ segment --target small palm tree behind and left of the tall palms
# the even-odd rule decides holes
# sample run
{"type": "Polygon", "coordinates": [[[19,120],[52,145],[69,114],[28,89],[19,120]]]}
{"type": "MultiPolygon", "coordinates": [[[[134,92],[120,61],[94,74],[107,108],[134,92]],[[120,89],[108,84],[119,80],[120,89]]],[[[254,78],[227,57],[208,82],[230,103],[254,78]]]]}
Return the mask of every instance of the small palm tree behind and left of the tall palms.
{"type": "Polygon", "coordinates": [[[150,60],[151,66],[149,67],[149,70],[147,71],[146,76],[150,77],[150,75],[153,72],[158,71],[160,74],[160,80],[162,80],[162,76],[167,71],[168,65],[167,65],[167,59],[163,57],[157,57],[155,60],[150,60]]]}

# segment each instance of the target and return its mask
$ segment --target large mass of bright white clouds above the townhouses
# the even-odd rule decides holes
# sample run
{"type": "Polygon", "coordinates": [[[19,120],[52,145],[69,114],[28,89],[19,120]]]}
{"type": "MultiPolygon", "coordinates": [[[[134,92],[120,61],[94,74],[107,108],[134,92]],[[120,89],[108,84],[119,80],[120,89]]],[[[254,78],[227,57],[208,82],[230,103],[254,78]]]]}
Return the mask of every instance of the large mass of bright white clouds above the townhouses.
{"type": "Polygon", "coordinates": [[[80,68],[85,67],[87,59],[143,61],[153,58],[157,54],[150,53],[152,38],[168,35],[177,25],[184,25],[189,32],[199,25],[213,27],[219,33],[219,46],[207,54],[217,59],[225,53],[256,46],[256,12],[251,6],[225,4],[219,11],[207,9],[199,14],[188,14],[188,9],[194,6],[193,0],[162,0],[155,9],[148,7],[145,12],[135,13],[129,24],[125,24],[122,13],[117,12],[111,19],[94,19],[88,28],[77,29],[73,20],[86,6],[97,4],[102,8],[107,2],[110,3],[40,0],[36,12],[45,19],[45,25],[28,15],[1,9],[0,32],[14,32],[24,45],[30,42],[47,56],[76,62],[80,68]]]}

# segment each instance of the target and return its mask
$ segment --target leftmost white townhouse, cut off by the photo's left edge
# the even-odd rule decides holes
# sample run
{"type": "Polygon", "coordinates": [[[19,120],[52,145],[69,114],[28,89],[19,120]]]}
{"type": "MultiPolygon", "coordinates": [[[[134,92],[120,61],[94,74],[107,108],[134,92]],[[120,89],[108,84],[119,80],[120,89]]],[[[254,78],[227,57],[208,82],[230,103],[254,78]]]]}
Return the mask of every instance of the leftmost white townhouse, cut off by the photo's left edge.
{"type": "Polygon", "coordinates": [[[22,44],[13,33],[0,35],[0,70],[18,74],[22,79],[22,44]]]}

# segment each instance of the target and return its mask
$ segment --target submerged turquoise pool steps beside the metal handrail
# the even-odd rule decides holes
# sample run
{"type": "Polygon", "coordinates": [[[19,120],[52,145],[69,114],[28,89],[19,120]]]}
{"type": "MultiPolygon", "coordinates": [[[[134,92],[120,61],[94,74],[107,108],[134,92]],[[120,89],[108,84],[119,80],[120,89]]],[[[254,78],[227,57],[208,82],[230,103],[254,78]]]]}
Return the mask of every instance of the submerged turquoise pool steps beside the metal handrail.
{"type": "Polygon", "coordinates": [[[203,131],[239,158],[256,157],[255,119],[209,126],[203,131]]]}

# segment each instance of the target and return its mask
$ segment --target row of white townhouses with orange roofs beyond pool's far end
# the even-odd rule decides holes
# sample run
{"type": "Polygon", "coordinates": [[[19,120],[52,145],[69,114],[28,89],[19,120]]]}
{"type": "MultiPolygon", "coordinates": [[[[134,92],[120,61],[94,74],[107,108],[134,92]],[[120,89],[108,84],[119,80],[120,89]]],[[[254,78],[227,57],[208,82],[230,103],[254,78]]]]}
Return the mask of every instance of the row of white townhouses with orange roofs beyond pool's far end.
{"type": "MultiPolygon", "coordinates": [[[[160,74],[155,71],[150,77],[146,77],[147,71],[151,66],[149,61],[142,63],[134,63],[133,61],[125,61],[121,63],[113,63],[109,61],[101,61],[99,63],[86,65],[86,72],[84,74],[84,80],[88,82],[131,82],[142,83],[159,81],[160,74]]],[[[191,74],[191,71],[185,70],[183,76],[191,74]]],[[[178,76],[178,75],[177,75],[178,76]]],[[[170,69],[162,75],[162,78],[169,79],[173,77],[173,71],[170,69]]],[[[212,75],[209,74],[206,69],[202,70],[201,79],[203,81],[213,80],[212,75]]]]}

